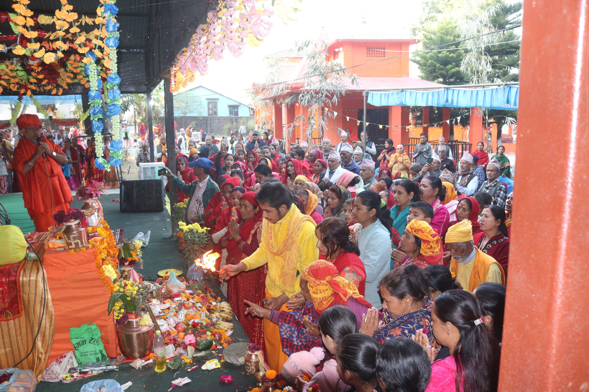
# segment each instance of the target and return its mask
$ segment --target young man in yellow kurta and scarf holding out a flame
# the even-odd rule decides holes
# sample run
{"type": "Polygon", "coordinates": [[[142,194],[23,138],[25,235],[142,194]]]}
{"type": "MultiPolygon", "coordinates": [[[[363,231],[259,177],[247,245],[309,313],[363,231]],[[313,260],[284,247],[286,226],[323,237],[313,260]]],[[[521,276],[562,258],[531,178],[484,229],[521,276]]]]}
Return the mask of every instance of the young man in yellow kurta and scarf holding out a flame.
{"type": "MultiPolygon", "coordinates": [[[[263,184],[256,200],[264,216],[260,247],[241,263],[222,267],[220,276],[234,276],[268,263],[264,307],[289,311],[286,301],[300,292],[300,272],[319,258],[316,225],[293,204],[291,193],[282,183],[263,184]]],[[[270,368],[280,371],[289,357],[282,351],[279,326],[266,318],[264,343],[270,368]]]]}

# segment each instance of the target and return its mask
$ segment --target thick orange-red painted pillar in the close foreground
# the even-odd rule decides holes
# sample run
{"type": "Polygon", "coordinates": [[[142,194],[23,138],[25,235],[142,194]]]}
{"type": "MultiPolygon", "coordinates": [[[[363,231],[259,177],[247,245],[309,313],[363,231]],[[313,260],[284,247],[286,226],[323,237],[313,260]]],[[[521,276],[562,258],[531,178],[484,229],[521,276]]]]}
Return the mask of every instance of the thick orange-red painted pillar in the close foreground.
{"type": "Polygon", "coordinates": [[[524,0],[524,15],[499,391],[585,391],[589,0],[524,0]],[[557,156],[560,165],[538,167],[557,156]],[[546,192],[551,179],[557,197],[546,192]]]}

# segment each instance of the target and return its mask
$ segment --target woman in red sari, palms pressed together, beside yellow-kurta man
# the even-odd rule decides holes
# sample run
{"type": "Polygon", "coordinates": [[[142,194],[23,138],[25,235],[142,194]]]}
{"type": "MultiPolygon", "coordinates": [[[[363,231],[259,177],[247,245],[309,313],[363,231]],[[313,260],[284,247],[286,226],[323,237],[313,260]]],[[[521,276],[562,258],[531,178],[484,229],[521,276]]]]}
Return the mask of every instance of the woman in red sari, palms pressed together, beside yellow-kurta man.
{"type": "MultiPolygon", "coordinates": [[[[246,192],[240,196],[239,210],[241,223],[229,221],[229,230],[221,239],[221,247],[227,249],[227,264],[239,264],[258,248],[262,239],[262,209],[256,200],[256,193],[246,192]]],[[[248,306],[244,300],[262,304],[266,289],[266,264],[256,269],[237,274],[227,282],[227,301],[252,343],[264,347],[263,320],[246,314],[248,306]]]]}

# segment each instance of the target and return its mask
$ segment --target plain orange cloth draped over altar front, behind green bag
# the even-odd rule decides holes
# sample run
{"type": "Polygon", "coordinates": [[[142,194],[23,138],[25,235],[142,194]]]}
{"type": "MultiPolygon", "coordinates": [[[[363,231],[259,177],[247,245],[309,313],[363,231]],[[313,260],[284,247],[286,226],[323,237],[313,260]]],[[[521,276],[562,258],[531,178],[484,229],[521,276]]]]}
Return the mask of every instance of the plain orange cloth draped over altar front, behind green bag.
{"type": "Polygon", "coordinates": [[[70,254],[67,250],[45,250],[47,282],[55,311],[55,338],[49,361],[74,350],[70,328],[94,323],[100,328],[109,357],[120,355],[112,314],[107,314],[111,293],[102,284],[94,263],[94,249],[70,254]]]}

